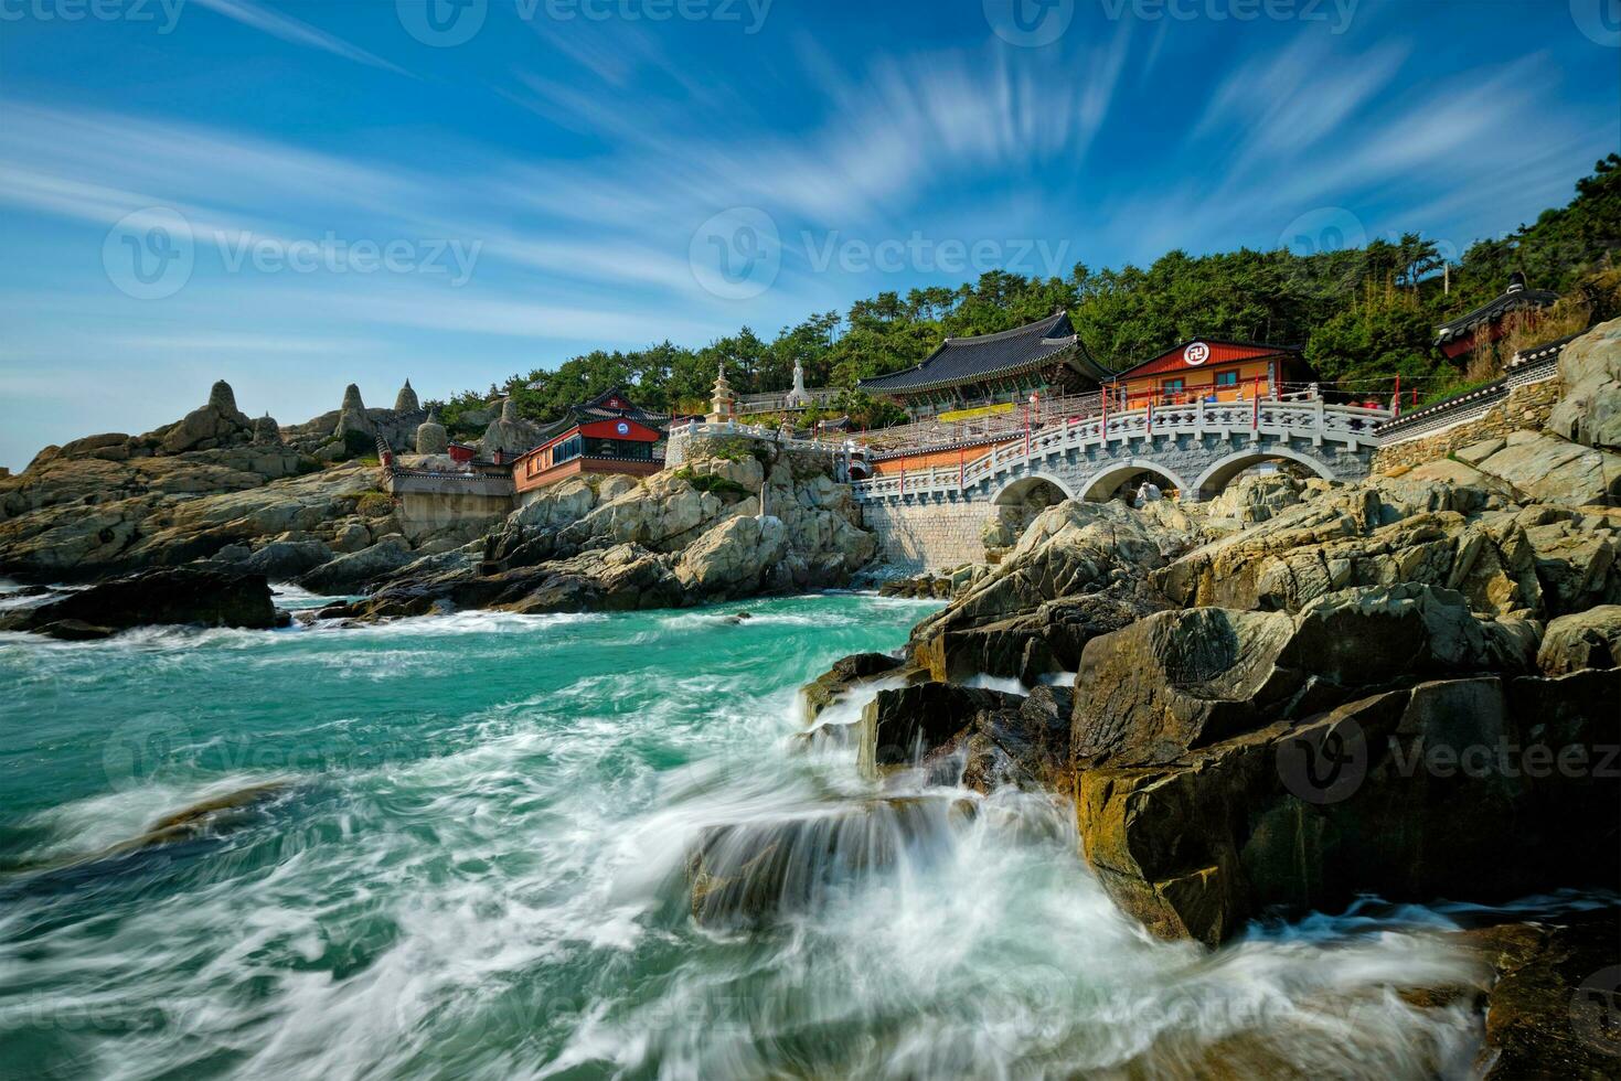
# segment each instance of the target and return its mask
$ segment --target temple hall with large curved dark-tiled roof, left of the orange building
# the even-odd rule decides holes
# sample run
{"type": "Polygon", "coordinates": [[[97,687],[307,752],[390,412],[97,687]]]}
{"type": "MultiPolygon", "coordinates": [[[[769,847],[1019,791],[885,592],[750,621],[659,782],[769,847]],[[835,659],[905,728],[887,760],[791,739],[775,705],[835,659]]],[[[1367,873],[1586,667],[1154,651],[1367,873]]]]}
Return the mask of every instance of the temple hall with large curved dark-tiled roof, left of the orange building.
{"type": "Polygon", "coordinates": [[[1031,394],[1081,394],[1109,378],[1059,310],[1000,334],[948,337],[921,365],[858,386],[898,400],[913,417],[930,417],[997,404],[1013,408],[1031,394]]]}

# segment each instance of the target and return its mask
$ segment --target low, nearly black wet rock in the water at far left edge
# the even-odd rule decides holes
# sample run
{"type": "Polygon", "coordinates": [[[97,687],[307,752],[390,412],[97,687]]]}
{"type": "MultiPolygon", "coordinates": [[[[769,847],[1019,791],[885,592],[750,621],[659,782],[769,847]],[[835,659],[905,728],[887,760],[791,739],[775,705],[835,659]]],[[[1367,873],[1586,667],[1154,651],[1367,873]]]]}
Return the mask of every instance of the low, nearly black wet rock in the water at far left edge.
{"type": "Polygon", "coordinates": [[[11,630],[39,630],[60,622],[117,630],[157,624],[264,630],[276,626],[276,606],[261,575],[173,567],[102,582],[0,617],[0,626],[11,630]]]}

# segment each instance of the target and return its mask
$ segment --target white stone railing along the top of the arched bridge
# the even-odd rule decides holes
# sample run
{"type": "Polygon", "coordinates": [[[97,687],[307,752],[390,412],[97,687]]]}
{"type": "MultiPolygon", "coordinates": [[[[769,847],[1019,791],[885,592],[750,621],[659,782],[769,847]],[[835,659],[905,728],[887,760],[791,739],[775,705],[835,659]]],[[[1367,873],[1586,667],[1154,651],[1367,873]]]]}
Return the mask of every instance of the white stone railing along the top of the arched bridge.
{"type": "Polygon", "coordinates": [[[1250,400],[1250,402],[1190,402],[1187,405],[1162,405],[1135,408],[1125,413],[1065,418],[1029,433],[1024,439],[1003,442],[973,462],[932,467],[917,472],[892,473],[856,481],[856,498],[862,501],[901,496],[930,496],[961,493],[989,476],[1005,473],[1016,465],[1046,459],[1050,454],[1107,447],[1112,442],[1151,439],[1153,436],[1253,434],[1305,438],[1321,446],[1324,441],[1344,442],[1349,447],[1378,447],[1375,428],[1389,420],[1383,408],[1362,405],[1331,405],[1321,397],[1308,400],[1250,400]]]}

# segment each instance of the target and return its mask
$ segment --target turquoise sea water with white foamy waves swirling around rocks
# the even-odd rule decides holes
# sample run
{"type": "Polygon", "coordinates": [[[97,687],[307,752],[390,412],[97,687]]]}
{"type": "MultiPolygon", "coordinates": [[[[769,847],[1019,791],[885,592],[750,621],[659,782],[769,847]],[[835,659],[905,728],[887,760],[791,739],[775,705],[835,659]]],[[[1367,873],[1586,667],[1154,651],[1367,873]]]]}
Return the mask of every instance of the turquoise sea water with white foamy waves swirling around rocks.
{"type": "Polygon", "coordinates": [[[796,739],[799,684],[929,609],[0,635],[0,1075],[1465,1076],[1475,1018],[1394,993],[1477,976],[1444,919],[1154,942],[1065,804],[880,791],[796,739]],[[217,836],[96,856],[266,781],[217,836]],[[694,922],[705,830],[896,793],[973,814],[845,874],[798,854],[833,870],[763,925],[694,922]]]}

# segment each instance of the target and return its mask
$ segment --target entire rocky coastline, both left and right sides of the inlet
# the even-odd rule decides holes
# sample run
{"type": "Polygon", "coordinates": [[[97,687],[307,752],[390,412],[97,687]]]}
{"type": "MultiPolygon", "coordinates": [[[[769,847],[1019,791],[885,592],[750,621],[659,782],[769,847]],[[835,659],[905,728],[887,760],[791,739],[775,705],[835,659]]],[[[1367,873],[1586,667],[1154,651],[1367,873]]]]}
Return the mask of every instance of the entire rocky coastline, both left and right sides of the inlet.
{"type": "MultiPolygon", "coordinates": [[[[1569,347],[1548,431],[1401,475],[1047,507],[994,566],[887,585],[948,603],[900,655],[809,684],[807,720],[853,744],[880,793],[922,771],[1067,801],[1078,857],[1159,938],[1219,946],[1368,895],[1610,891],[1569,925],[1464,932],[1488,985],[1410,993],[1480,995],[1486,1076],[1530,1062],[1611,1076],[1553,1003],[1621,959],[1621,321],[1569,347]],[[859,713],[828,724],[840,703],[859,713]]],[[[0,572],[96,582],[8,609],[0,629],[267,629],[287,622],[271,580],[358,595],[311,621],[684,608],[843,587],[877,556],[825,457],[744,439],[642,480],[567,480],[494,528],[408,535],[355,451],[420,410],[402,392],[368,412],[350,391],[280,429],[219,384],[169,428],[50,447],[0,476],[0,572]]],[[[892,836],[973,809],[879,796],[851,814],[892,836]]],[[[791,846],[807,843],[832,841],[791,846]]],[[[705,836],[694,914],[788,903],[789,869],[768,857],[783,844],[770,823],[705,836]]]]}

